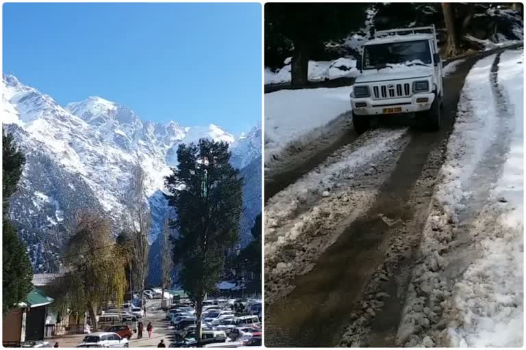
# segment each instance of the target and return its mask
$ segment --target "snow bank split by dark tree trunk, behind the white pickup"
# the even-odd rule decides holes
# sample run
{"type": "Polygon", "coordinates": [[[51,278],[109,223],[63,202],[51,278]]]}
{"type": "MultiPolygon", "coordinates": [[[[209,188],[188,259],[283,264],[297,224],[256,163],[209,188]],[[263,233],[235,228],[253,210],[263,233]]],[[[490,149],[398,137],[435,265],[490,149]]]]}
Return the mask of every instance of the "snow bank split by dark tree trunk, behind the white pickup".
{"type": "MultiPolygon", "coordinates": [[[[273,72],[265,68],[265,84],[290,83],[290,57],[283,68],[273,72]]],[[[357,77],[360,71],[356,69],[355,59],[341,57],[334,61],[309,61],[309,81],[324,81],[338,78],[357,77]]]]}

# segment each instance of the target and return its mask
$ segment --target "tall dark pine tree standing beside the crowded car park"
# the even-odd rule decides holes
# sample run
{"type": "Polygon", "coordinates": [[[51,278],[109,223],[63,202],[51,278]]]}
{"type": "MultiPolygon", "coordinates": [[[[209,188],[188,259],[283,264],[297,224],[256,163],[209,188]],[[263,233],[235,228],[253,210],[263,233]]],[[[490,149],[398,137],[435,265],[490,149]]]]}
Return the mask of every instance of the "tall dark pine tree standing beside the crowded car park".
{"type": "Polygon", "coordinates": [[[179,165],[166,178],[168,202],[177,212],[173,227],[179,232],[173,259],[181,262],[181,284],[196,304],[199,341],[203,299],[216,290],[225,255],[238,241],[242,178],[223,142],[181,144],[177,159],[179,165]]]}

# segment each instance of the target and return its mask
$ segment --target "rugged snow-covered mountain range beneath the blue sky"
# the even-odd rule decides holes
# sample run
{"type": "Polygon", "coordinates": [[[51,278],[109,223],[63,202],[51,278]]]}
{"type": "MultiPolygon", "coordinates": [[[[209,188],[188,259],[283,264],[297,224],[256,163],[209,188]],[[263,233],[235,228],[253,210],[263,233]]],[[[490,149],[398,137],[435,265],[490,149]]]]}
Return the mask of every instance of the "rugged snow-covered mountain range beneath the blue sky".
{"type": "MultiPolygon", "coordinates": [[[[10,215],[36,271],[56,269],[56,261],[50,261],[79,210],[103,213],[118,232],[127,215],[125,195],[134,164],[147,172],[153,243],[166,211],[164,176],[177,165],[179,144],[201,137],[227,142],[232,164],[240,168],[261,155],[261,147],[255,147],[261,144],[259,125],[234,137],[214,124],[144,121],[132,109],[97,96],[62,107],[11,75],[3,75],[2,102],[3,124],[27,158],[10,215]]],[[[242,232],[241,241],[249,235],[242,232]]]]}

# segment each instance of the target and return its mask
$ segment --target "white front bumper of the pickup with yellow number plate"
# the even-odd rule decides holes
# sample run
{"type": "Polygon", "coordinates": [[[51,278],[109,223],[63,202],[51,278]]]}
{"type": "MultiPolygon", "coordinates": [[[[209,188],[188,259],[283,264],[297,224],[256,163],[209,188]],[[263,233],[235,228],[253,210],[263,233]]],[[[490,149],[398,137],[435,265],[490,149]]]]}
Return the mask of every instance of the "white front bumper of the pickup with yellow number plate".
{"type": "Polygon", "coordinates": [[[353,113],[357,116],[379,116],[386,113],[414,113],[427,111],[435,100],[435,94],[414,94],[408,98],[391,98],[385,100],[373,100],[373,98],[351,98],[353,113]],[[427,98],[427,100],[425,100],[427,98]],[[418,100],[418,102],[417,102],[418,100]],[[424,102],[421,102],[424,101],[424,102]],[[359,107],[357,107],[357,105],[359,107]],[[393,112],[392,109],[401,108],[400,111],[393,112]],[[386,111],[389,109],[390,111],[386,111]]]}

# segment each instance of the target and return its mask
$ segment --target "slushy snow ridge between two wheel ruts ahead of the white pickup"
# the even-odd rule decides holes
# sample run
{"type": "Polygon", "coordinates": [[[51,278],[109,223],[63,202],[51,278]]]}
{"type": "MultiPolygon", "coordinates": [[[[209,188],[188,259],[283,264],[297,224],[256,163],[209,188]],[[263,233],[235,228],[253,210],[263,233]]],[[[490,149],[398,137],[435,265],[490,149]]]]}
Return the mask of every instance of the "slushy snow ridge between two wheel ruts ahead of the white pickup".
{"type": "Polygon", "coordinates": [[[369,131],[277,193],[265,207],[265,300],[292,290],[288,281],[364,213],[408,142],[407,129],[369,131]]]}

